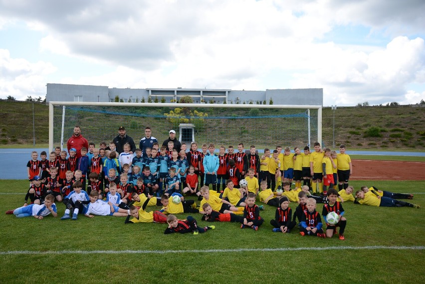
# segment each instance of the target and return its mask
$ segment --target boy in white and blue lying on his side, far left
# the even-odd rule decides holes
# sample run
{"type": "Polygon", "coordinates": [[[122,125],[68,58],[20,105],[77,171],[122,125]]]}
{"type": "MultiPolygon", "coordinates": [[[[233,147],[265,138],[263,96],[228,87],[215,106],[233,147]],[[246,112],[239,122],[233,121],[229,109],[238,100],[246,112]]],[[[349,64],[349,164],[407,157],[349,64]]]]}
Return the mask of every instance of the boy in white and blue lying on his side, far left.
{"type": "Polygon", "coordinates": [[[44,198],[44,204],[31,204],[28,206],[22,206],[15,210],[8,210],[6,214],[13,214],[18,218],[33,216],[35,219],[41,220],[49,214],[53,217],[57,217],[56,204],[54,204],[54,196],[48,194],[44,198]]]}

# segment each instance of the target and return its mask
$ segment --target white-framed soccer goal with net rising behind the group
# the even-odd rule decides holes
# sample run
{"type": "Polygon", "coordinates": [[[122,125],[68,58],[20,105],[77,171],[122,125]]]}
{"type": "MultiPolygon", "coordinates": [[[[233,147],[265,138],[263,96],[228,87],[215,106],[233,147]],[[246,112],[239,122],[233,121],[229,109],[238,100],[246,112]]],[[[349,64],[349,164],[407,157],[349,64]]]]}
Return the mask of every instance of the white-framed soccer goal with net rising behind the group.
{"type": "MultiPolygon", "coordinates": [[[[186,143],[257,149],[304,147],[322,140],[322,107],[314,105],[49,102],[49,149],[66,147],[74,126],[96,146],[124,126],[138,145],[145,127],[160,145],[175,130],[186,143]]],[[[188,146],[188,150],[190,145],[188,146]]]]}

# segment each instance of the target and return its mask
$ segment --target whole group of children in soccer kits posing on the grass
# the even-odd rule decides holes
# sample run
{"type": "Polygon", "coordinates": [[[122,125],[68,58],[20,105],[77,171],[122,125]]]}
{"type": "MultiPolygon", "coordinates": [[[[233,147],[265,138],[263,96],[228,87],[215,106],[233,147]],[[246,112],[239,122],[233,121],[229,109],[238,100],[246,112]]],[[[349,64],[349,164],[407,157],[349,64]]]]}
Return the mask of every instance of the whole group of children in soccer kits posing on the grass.
{"type": "Polygon", "coordinates": [[[237,222],[241,228],[258,230],[264,222],[259,214],[264,205],[255,204],[258,196],[259,202],[277,208],[275,219],[270,221],[273,232],[289,233],[298,226],[303,236],[330,238],[336,233],[336,227],[340,227],[339,238],[344,240],[344,201],[419,208],[419,205],[394,199],[412,199],[413,195],[374,187],[362,187],[355,199],[353,187],[348,184],[351,159],[344,145],[338,154],[328,148],[322,150],[317,142],[313,152],[306,146],[303,152],[298,147],[294,152],[286,147],[282,153],[278,145],[272,154],[265,148],[261,157],[253,145],[246,153],[242,143],[238,144],[236,153],[232,146],[227,148],[227,153],[225,147],[220,146],[216,154],[213,143],[203,144],[202,152],[198,151],[196,142],[191,143],[188,152],[185,143],[179,153],[173,147],[173,142],[168,148],[159,148],[158,143],[154,143],[152,148],[146,148],[145,154],[141,149],[133,154],[130,145],[125,144],[124,152],[118,155],[113,142],[109,148],[104,142],[95,148],[91,142],[89,149],[81,149],[79,158],[74,148],[67,157],[66,151],[56,147],[49,154],[49,160],[46,152],[41,152],[41,160],[38,160],[38,153],[33,151],[27,163],[30,187],[24,206],[6,213],[38,219],[50,213],[57,216],[56,200],[65,205],[63,220],[76,220],[78,214],[127,216],[126,224],[167,222],[166,234],[198,234],[215,227],[199,227],[192,216],[178,220],[174,214],[201,213],[202,220],[208,222],[237,222]],[[87,190],[86,178],[89,180],[87,190]],[[291,189],[292,181],[294,189],[291,189]],[[194,200],[185,200],[182,194],[197,195],[201,200],[199,208],[194,200]],[[27,203],[28,198],[31,205],[27,203]],[[293,214],[289,202],[298,204],[293,214]],[[338,223],[327,224],[323,230],[316,203],[325,203],[322,211],[325,224],[330,212],[336,212],[338,223]],[[162,209],[148,212],[147,206],[162,206],[162,209]]]}

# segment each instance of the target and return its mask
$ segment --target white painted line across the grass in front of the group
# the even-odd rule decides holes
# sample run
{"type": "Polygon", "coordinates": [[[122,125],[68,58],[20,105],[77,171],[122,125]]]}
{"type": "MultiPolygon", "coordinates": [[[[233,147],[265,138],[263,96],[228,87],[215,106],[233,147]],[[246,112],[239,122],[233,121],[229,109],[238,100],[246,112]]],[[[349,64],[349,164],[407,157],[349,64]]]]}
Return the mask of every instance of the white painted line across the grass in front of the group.
{"type": "Polygon", "coordinates": [[[425,250],[425,246],[365,246],[365,247],[304,247],[304,248],[263,248],[263,249],[211,249],[211,250],[123,250],[123,251],[7,251],[0,255],[66,255],[66,254],[184,254],[184,253],[242,253],[242,252],[293,252],[293,251],[329,251],[329,250],[425,250]]]}

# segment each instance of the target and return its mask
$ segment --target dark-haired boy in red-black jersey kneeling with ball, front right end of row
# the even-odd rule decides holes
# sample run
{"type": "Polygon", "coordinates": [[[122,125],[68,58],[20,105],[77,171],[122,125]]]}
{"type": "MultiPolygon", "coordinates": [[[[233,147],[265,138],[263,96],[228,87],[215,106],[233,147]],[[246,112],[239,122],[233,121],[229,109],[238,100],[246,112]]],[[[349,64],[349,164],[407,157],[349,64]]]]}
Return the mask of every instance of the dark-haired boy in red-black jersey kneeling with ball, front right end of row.
{"type": "Polygon", "coordinates": [[[337,232],[336,227],[339,227],[339,239],[343,241],[345,240],[344,231],[345,226],[347,225],[347,219],[345,219],[345,217],[342,217],[344,215],[344,208],[342,208],[342,204],[337,201],[338,192],[335,189],[329,189],[327,194],[329,203],[323,205],[322,210],[323,220],[325,220],[326,223],[326,237],[332,238],[332,236],[337,232]],[[328,224],[328,221],[326,220],[326,216],[328,216],[330,212],[335,212],[338,214],[339,221],[335,225],[328,224]]]}

